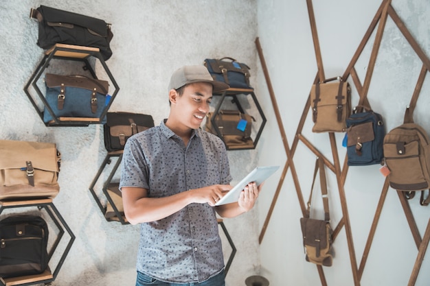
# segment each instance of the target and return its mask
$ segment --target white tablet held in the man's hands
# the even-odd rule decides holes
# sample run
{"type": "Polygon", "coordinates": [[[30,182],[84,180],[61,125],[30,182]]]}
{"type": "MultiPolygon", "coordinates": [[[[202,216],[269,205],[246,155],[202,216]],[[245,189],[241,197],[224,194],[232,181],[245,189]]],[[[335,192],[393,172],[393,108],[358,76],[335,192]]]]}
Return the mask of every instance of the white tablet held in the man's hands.
{"type": "Polygon", "coordinates": [[[229,204],[231,202],[237,202],[239,200],[240,192],[249,184],[250,182],[256,182],[257,186],[259,186],[264,180],[269,178],[276,170],[279,169],[279,166],[265,166],[265,167],[256,167],[253,169],[251,173],[249,173],[245,178],[240,180],[236,186],[233,187],[228,193],[226,193],[223,198],[216,202],[216,206],[220,204],[229,204]]]}

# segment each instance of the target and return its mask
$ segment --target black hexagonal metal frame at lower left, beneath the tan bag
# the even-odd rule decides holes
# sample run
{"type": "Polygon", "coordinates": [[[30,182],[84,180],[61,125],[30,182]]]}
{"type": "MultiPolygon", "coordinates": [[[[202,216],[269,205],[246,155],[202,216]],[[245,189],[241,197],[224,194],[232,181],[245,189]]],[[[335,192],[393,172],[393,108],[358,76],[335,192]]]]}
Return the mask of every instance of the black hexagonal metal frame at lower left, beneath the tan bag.
{"type": "MultiPolygon", "coordinates": [[[[16,202],[16,204],[8,202],[7,205],[0,205],[0,215],[3,212],[3,210],[5,210],[6,208],[20,208],[20,207],[28,207],[28,206],[36,206],[39,210],[45,209],[45,211],[47,212],[49,217],[51,217],[52,221],[54,222],[54,224],[56,225],[56,227],[59,230],[59,233],[58,233],[58,235],[54,241],[54,244],[52,245],[52,248],[48,252],[48,263],[51,260],[52,255],[56,251],[58,244],[60,243],[61,239],[63,238],[63,235],[65,234],[65,230],[67,230],[67,233],[69,233],[69,235],[70,235],[69,243],[67,243],[67,246],[65,248],[65,251],[63,252],[63,255],[61,256],[60,260],[58,261],[58,264],[56,265],[54,272],[52,272],[52,278],[42,279],[40,281],[34,281],[34,282],[30,282],[30,283],[22,283],[22,284],[14,283],[14,285],[20,285],[20,286],[34,285],[34,284],[41,284],[41,283],[45,283],[45,285],[47,285],[49,283],[52,283],[52,281],[54,281],[56,279],[56,276],[58,275],[58,272],[60,271],[61,267],[63,266],[63,263],[67,257],[67,254],[69,254],[69,250],[70,250],[71,246],[73,245],[73,241],[75,240],[76,237],[75,237],[75,235],[73,235],[73,232],[71,231],[71,229],[69,228],[69,226],[67,225],[67,223],[65,222],[63,217],[60,215],[56,206],[54,206],[54,204],[52,203],[51,199],[49,199],[47,202],[45,202],[44,200],[35,200],[34,202],[29,200],[29,201],[25,201],[24,203],[18,201],[18,202],[16,202]]],[[[5,284],[3,284],[1,281],[0,281],[0,285],[5,286],[5,284]]]]}

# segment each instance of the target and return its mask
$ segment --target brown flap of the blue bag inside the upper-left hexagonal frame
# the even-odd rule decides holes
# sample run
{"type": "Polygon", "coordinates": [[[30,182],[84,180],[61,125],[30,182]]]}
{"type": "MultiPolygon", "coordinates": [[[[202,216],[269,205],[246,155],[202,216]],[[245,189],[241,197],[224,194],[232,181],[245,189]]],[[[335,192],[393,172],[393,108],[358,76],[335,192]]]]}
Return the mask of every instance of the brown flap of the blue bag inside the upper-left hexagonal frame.
{"type": "Polygon", "coordinates": [[[106,80],[95,80],[80,75],[56,75],[54,73],[45,74],[45,84],[48,87],[56,87],[64,84],[65,86],[84,88],[93,91],[94,88],[98,93],[107,95],[109,91],[109,82],[106,80]]]}

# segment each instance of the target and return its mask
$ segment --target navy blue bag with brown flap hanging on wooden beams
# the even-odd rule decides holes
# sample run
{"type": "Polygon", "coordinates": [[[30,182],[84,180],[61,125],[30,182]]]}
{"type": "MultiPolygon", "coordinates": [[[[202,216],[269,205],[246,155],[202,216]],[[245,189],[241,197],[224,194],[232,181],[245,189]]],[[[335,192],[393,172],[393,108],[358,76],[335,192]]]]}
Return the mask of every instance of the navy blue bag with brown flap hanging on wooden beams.
{"type": "Polygon", "coordinates": [[[348,166],[380,164],[384,157],[385,126],[380,114],[357,106],[346,119],[348,166]]]}

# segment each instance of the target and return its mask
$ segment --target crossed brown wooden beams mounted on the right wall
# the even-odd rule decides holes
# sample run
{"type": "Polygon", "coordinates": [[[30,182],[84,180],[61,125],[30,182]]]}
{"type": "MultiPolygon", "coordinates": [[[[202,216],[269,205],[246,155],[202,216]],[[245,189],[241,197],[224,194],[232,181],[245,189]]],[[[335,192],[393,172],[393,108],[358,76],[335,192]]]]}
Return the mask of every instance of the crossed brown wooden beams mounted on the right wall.
{"type": "MultiPolygon", "coordinates": [[[[308,5],[308,15],[309,15],[309,20],[310,20],[310,27],[311,27],[312,36],[313,36],[315,55],[317,58],[318,72],[317,72],[317,75],[316,75],[315,80],[314,80],[314,84],[315,84],[319,80],[324,81],[326,79],[326,77],[324,75],[324,65],[323,65],[321,51],[320,51],[320,47],[319,47],[319,40],[318,40],[318,35],[317,35],[317,26],[315,23],[315,16],[313,13],[312,0],[306,0],[306,3],[308,5]]],[[[411,102],[409,103],[409,109],[410,109],[409,111],[413,112],[414,107],[416,106],[416,102],[418,100],[418,96],[419,96],[421,88],[422,88],[422,84],[425,80],[425,76],[430,71],[430,60],[425,55],[424,51],[422,51],[422,49],[420,48],[420,46],[418,45],[418,43],[416,42],[414,37],[410,34],[407,27],[403,24],[403,21],[401,21],[400,17],[398,16],[398,14],[396,13],[396,11],[394,10],[394,8],[391,5],[391,0],[383,0],[382,1],[380,7],[376,11],[374,18],[372,19],[372,22],[370,23],[370,26],[367,28],[367,31],[365,32],[365,35],[363,36],[363,39],[361,40],[361,43],[359,44],[357,51],[354,53],[354,56],[352,56],[352,60],[350,61],[350,64],[348,64],[346,71],[343,73],[342,78],[343,78],[343,80],[347,80],[348,77],[351,76],[352,82],[354,83],[354,86],[357,88],[357,93],[359,94],[359,97],[360,97],[359,104],[364,103],[367,106],[370,106],[370,104],[367,100],[367,92],[369,91],[370,82],[372,80],[372,74],[373,74],[374,67],[375,67],[376,57],[378,56],[378,50],[379,50],[379,47],[381,45],[381,40],[382,40],[383,32],[385,29],[385,23],[387,21],[388,16],[391,17],[391,19],[394,21],[394,23],[396,24],[396,26],[398,27],[400,32],[403,34],[403,36],[405,36],[409,45],[411,45],[412,49],[414,49],[414,51],[416,52],[418,58],[420,58],[420,60],[422,61],[422,69],[420,71],[420,74],[418,75],[418,81],[417,81],[416,87],[414,89],[414,93],[411,97],[411,102]],[[377,27],[377,29],[376,29],[376,27],[377,27]],[[361,84],[361,81],[359,79],[359,76],[357,75],[357,71],[355,70],[354,65],[357,63],[357,60],[361,56],[361,53],[363,52],[365,45],[369,41],[370,36],[372,36],[375,29],[376,29],[376,36],[375,36],[374,44],[372,47],[372,53],[370,55],[369,64],[367,66],[367,71],[365,74],[365,80],[364,80],[363,84],[361,84]]],[[[278,200],[278,196],[279,196],[280,191],[282,189],[282,184],[284,183],[284,179],[286,176],[286,172],[288,171],[288,168],[291,169],[291,175],[293,177],[293,182],[295,184],[297,199],[299,201],[300,208],[302,209],[302,215],[304,215],[304,213],[306,211],[306,206],[304,203],[302,190],[300,188],[299,180],[297,178],[297,172],[295,169],[295,165],[293,163],[293,156],[295,154],[297,144],[300,141],[304,145],[306,145],[306,147],[308,147],[308,149],[311,152],[313,152],[316,156],[323,158],[324,164],[328,167],[328,169],[330,169],[336,175],[337,187],[339,190],[339,198],[341,201],[341,209],[342,209],[343,217],[339,220],[339,223],[335,227],[335,229],[333,231],[332,239],[333,239],[333,241],[335,241],[337,235],[339,235],[341,228],[345,228],[346,238],[348,241],[348,250],[350,253],[350,263],[351,263],[351,267],[352,267],[352,275],[354,278],[354,285],[358,286],[358,285],[360,285],[360,281],[361,281],[361,277],[363,276],[363,271],[365,268],[367,257],[368,257],[368,254],[370,252],[370,248],[372,246],[374,234],[376,232],[376,227],[378,225],[379,218],[381,217],[381,212],[383,209],[383,205],[385,203],[385,198],[387,196],[387,191],[389,189],[389,181],[386,178],[385,182],[383,184],[381,196],[379,198],[379,202],[378,202],[378,205],[376,207],[376,213],[374,215],[372,226],[370,228],[370,233],[367,237],[367,242],[365,244],[363,256],[361,257],[361,263],[358,266],[357,265],[357,257],[356,257],[355,250],[354,250],[354,243],[353,243],[353,239],[352,239],[351,227],[350,227],[350,219],[349,219],[349,214],[348,214],[348,204],[346,201],[345,190],[343,189],[343,186],[346,182],[346,176],[348,174],[348,164],[347,164],[348,157],[346,156],[344,158],[343,166],[341,169],[341,163],[339,161],[339,155],[337,153],[335,134],[333,132],[328,133],[330,145],[331,145],[332,162],[333,163],[328,158],[326,158],[323,154],[321,154],[321,152],[319,152],[319,150],[317,150],[317,147],[315,147],[312,143],[310,143],[310,141],[308,141],[302,135],[304,122],[306,121],[308,111],[310,109],[310,97],[309,96],[308,96],[308,100],[304,106],[304,110],[302,112],[302,117],[299,121],[299,125],[297,126],[297,131],[295,133],[295,138],[293,140],[293,144],[291,145],[291,148],[290,148],[290,146],[288,145],[288,141],[286,139],[284,124],[282,123],[282,118],[280,115],[278,104],[276,102],[275,93],[274,93],[273,87],[271,85],[271,80],[269,77],[269,71],[267,70],[267,65],[266,65],[266,62],[264,60],[264,55],[262,53],[262,47],[260,45],[259,38],[256,38],[255,43],[256,43],[256,48],[258,51],[258,56],[260,58],[262,71],[264,73],[264,78],[267,82],[267,87],[269,89],[269,95],[271,98],[273,110],[275,112],[275,117],[276,117],[276,120],[278,122],[278,127],[279,127],[280,134],[282,137],[282,143],[284,145],[284,150],[286,152],[286,157],[287,157],[286,163],[284,165],[284,169],[282,170],[282,175],[280,177],[280,181],[278,183],[278,187],[276,188],[275,194],[273,195],[271,206],[269,207],[267,217],[264,221],[264,224],[262,226],[262,230],[260,232],[259,242],[260,243],[262,242],[262,239],[264,238],[264,234],[266,233],[267,226],[269,225],[269,221],[271,219],[273,209],[275,208],[275,204],[278,200]]],[[[413,286],[416,283],[416,279],[418,277],[418,273],[420,271],[422,261],[425,257],[425,252],[427,251],[427,247],[429,245],[429,241],[430,241],[430,219],[429,219],[429,222],[427,224],[427,228],[425,230],[425,233],[424,233],[423,237],[421,237],[420,232],[418,230],[418,226],[416,225],[416,221],[414,219],[414,215],[411,212],[409,202],[407,202],[407,199],[405,198],[405,196],[403,195],[403,193],[401,191],[397,191],[397,193],[398,193],[398,198],[400,200],[400,204],[402,205],[403,211],[404,211],[405,216],[407,218],[409,228],[410,228],[411,233],[414,237],[416,247],[418,249],[418,254],[416,257],[414,268],[411,272],[411,276],[409,278],[409,283],[408,283],[408,286],[413,286]]],[[[323,267],[321,267],[320,265],[317,265],[317,270],[319,272],[319,278],[321,280],[321,285],[327,285],[326,278],[324,276],[323,267]]]]}

